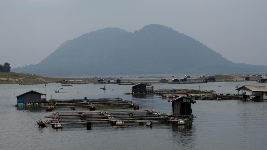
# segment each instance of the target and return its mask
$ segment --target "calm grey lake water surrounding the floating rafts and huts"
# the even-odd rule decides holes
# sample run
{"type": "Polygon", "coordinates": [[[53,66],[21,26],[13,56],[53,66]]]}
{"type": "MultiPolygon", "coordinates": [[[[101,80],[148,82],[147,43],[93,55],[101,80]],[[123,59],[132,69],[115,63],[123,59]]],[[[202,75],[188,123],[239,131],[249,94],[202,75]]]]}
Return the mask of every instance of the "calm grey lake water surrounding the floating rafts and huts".
{"type": "MultiPolygon", "coordinates": [[[[235,86],[266,85],[256,82],[217,82],[207,84],[154,84],[155,89],[215,90],[236,93],[235,86]],[[220,87],[218,87],[220,86],[220,87]]],[[[83,99],[104,98],[103,85],[47,85],[47,98],[83,99]],[[60,89],[64,88],[64,89],[60,89]],[[60,93],[54,91],[59,90],[60,93]]],[[[171,112],[168,99],[158,95],[142,98],[123,95],[131,92],[129,85],[106,85],[106,98],[122,97],[140,104],[143,110],[171,112]],[[111,90],[111,89],[114,89],[111,90]]],[[[193,125],[162,125],[114,129],[110,126],[54,130],[40,129],[35,120],[49,115],[45,109],[18,110],[12,107],[19,94],[35,90],[45,93],[45,85],[0,85],[0,150],[265,150],[267,135],[267,101],[196,100],[192,105],[197,116],[193,125]]]]}

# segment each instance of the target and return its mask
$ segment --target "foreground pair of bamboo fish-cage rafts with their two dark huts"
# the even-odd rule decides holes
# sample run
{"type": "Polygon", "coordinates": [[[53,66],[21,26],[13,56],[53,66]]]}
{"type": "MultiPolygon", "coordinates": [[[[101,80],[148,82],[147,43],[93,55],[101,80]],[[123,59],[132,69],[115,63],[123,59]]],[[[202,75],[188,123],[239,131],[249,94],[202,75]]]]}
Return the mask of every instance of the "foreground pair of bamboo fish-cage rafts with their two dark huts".
{"type": "MultiPolygon", "coordinates": [[[[118,127],[136,127],[152,124],[173,123],[185,125],[192,120],[191,103],[196,101],[187,97],[180,96],[172,100],[172,113],[160,114],[155,110],[139,110],[139,105],[121,98],[102,98],[102,99],[51,99],[46,101],[43,93],[28,91],[17,96],[18,105],[35,105],[44,103],[47,111],[52,111],[44,118],[50,118],[53,128],[72,128],[72,127],[101,127],[111,125],[118,127]],[[43,100],[43,101],[42,101],[43,100]],[[97,109],[99,108],[99,110],[97,109]],[[114,110],[112,110],[114,108],[114,110]],[[54,112],[60,109],[61,112],[54,112]],[[54,111],[53,111],[54,110],[54,111]],[[65,110],[62,112],[62,110],[65,110]],[[188,117],[180,119],[179,117],[188,117]]],[[[47,123],[47,121],[46,121],[47,123]]],[[[42,126],[42,122],[38,123],[42,126]]]]}

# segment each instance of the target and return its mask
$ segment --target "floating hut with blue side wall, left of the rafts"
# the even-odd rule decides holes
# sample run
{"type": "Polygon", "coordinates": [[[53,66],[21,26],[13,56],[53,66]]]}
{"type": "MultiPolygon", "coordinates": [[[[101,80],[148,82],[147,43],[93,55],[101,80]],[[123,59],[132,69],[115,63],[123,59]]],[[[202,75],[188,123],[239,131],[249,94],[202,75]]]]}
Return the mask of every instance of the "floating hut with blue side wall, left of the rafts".
{"type": "Polygon", "coordinates": [[[36,92],[36,91],[28,91],[21,95],[16,96],[17,98],[17,104],[18,105],[24,105],[24,104],[40,104],[40,103],[46,103],[46,94],[36,92]],[[45,98],[42,98],[42,96],[45,95],[45,98]]]}

